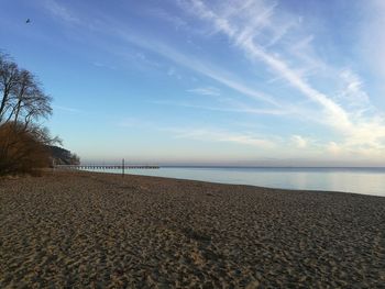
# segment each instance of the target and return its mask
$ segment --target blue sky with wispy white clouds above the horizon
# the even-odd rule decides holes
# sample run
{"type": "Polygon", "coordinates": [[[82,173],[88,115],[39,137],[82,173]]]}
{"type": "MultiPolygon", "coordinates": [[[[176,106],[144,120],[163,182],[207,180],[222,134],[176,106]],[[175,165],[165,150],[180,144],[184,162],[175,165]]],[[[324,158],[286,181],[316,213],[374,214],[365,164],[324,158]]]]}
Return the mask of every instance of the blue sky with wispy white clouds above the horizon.
{"type": "Polygon", "coordinates": [[[82,163],[385,165],[385,1],[0,3],[82,163]]]}

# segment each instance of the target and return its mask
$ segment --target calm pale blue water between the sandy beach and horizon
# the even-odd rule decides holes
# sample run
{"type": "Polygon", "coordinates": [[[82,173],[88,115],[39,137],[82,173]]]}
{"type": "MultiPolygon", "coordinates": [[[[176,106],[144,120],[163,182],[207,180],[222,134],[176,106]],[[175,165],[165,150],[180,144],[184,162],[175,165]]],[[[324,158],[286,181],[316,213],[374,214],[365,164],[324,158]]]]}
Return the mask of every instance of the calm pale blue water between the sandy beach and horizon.
{"type": "MultiPolygon", "coordinates": [[[[121,170],[95,170],[121,174],[121,170]]],[[[162,167],[127,174],[268,188],[345,191],[385,197],[385,168],[162,167]]]]}

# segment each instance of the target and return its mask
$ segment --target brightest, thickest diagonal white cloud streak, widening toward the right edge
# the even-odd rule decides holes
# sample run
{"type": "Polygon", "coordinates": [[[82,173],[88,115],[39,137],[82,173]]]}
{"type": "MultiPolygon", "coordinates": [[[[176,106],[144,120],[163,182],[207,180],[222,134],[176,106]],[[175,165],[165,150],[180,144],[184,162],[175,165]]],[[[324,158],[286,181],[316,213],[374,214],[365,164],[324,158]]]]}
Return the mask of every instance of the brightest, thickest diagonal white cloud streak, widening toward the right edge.
{"type": "MultiPolygon", "coordinates": [[[[261,4],[261,1],[251,2],[261,4]]],[[[244,52],[248,58],[264,63],[268,68],[275,71],[276,76],[285,79],[288,85],[302,96],[318,104],[322,109],[323,115],[321,120],[323,123],[339,131],[344,136],[343,146],[355,146],[358,148],[361,146],[370,146],[373,149],[378,147],[384,148],[383,138],[385,136],[385,125],[384,120],[380,115],[370,119],[361,118],[346,111],[339,103],[333,101],[331,97],[312,87],[307,79],[302,78],[301,75],[297,73],[298,69],[292,68],[288,65],[287,60],[278,57],[276,54],[270,53],[263,47],[261,37],[257,38],[261,29],[255,27],[253,19],[248,20],[248,14],[242,14],[242,9],[232,5],[232,13],[222,14],[219,9],[213,9],[199,0],[190,0],[188,3],[193,7],[189,11],[193,11],[196,16],[211,23],[213,31],[226,34],[234,45],[244,52]],[[231,15],[237,15],[237,18],[231,15]],[[239,18],[243,18],[243,20],[239,21],[239,18]],[[253,27],[253,30],[250,27],[253,27]]],[[[273,21],[272,7],[266,7],[265,10],[260,11],[268,11],[268,13],[261,12],[262,16],[265,15],[264,23],[273,21]]],[[[257,18],[257,15],[254,15],[254,18],[257,18]]],[[[262,30],[265,29],[266,25],[268,24],[263,25],[262,30]]],[[[353,79],[352,75],[346,74],[344,77],[350,77],[350,91],[345,93],[360,95],[360,97],[363,98],[365,93],[361,90],[356,78],[353,79]]]]}

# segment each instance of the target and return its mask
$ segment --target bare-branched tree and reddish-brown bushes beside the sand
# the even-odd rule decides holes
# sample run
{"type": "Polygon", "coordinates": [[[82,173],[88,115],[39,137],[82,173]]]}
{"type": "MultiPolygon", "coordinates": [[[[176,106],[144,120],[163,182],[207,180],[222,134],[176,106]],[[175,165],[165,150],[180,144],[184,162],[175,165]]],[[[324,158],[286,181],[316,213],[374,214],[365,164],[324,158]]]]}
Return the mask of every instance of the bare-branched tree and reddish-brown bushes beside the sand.
{"type": "Polygon", "coordinates": [[[0,100],[0,175],[52,166],[50,147],[61,140],[41,124],[52,115],[52,98],[32,73],[1,53],[0,100]]]}

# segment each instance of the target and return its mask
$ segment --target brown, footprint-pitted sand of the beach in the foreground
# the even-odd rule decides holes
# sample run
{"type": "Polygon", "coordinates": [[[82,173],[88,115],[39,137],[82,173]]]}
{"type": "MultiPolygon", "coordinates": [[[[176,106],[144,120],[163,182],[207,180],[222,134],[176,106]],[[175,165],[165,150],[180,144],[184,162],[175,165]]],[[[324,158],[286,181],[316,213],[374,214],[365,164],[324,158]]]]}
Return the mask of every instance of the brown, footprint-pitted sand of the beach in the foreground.
{"type": "Polygon", "coordinates": [[[384,288],[385,198],[155,177],[0,179],[0,288],[384,288]]]}

